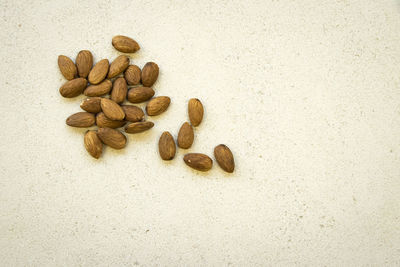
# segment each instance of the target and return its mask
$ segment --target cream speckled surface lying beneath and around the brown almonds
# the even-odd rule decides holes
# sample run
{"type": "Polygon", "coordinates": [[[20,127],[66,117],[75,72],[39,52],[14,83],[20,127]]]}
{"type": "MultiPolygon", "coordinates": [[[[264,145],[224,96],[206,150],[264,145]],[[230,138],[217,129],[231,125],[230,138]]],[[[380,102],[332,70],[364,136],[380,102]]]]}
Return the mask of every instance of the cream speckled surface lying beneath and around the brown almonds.
{"type": "Polygon", "coordinates": [[[400,265],[398,1],[2,0],[0,29],[0,265],[400,265]],[[172,104],[96,161],[57,56],[116,34],[172,104]],[[191,97],[233,175],[160,160],[191,97]]]}

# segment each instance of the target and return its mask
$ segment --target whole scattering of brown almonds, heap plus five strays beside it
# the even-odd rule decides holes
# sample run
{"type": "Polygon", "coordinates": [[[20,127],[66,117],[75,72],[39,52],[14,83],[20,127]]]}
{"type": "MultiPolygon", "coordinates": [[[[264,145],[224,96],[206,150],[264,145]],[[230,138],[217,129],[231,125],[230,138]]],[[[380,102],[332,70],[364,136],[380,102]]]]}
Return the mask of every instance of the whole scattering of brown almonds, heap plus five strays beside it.
{"type": "MultiPolygon", "coordinates": [[[[139,44],[126,36],[117,35],[112,39],[115,49],[123,53],[135,53],[139,44]]],[[[146,105],[148,116],[157,116],[166,111],[171,103],[168,96],[154,97],[152,89],[159,74],[159,67],[154,62],[146,63],[142,69],[130,64],[126,55],[120,55],[109,63],[101,59],[94,64],[93,55],[88,50],[78,53],[75,63],[67,56],[58,57],[58,66],[68,81],[60,87],[60,94],[66,98],[81,94],[89,98],[83,100],[80,107],[84,112],[69,116],[67,125],[89,128],[96,125],[97,130],[88,130],[84,135],[84,145],[89,154],[98,159],[103,145],[114,149],[126,146],[127,139],[118,128],[124,127],[125,133],[135,134],[151,129],[154,123],[145,120],[145,113],[140,107],[129,103],[146,105]]],[[[188,149],[194,141],[193,127],[203,120],[204,108],[200,100],[190,99],[188,104],[189,122],[182,124],[177,138],[178,147],[188,149]]],[[[158,142],[163,160],[172,160],[176,153],[176,144],[169,132],[164,132],[158,142]]],[[[218,165],[226,172],[233,172],[235,163],[231,150],[225,145],[214,149],[218,165]]],[[[188,153],[184,162],[199,171],[208,171],[213,165],[212,159],[201,153],[188,153]]]]}

